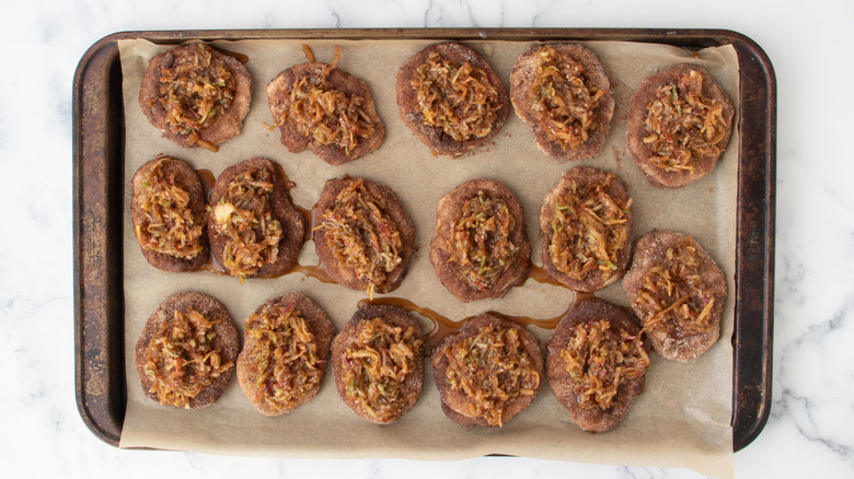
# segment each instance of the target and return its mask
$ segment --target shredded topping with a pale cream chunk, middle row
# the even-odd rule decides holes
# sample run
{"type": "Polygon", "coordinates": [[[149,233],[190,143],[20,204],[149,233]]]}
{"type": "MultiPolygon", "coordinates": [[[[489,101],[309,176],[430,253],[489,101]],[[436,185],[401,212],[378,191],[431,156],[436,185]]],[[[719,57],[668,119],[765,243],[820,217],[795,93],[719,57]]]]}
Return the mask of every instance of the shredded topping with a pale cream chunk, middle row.
{"type": "Polygon", "coordinates": [[[226,236],[223,265],[243,280],[279,254],[281,223],[273,218],[273,173],[246,170],[229,183],[214,207],[217,231],[226,236]]]}

